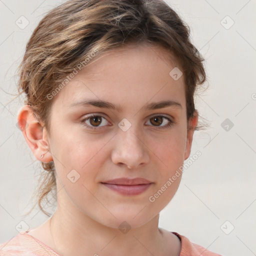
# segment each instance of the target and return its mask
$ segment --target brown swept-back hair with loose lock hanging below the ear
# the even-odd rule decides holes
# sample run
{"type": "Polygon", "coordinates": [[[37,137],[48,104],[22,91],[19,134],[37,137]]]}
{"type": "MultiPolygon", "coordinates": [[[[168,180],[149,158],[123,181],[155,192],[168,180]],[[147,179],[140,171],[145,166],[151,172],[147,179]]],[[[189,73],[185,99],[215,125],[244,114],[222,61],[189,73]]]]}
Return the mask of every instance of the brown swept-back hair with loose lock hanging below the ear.
{"type": "MultiPolygon", "coordinates": [[[[164,47],[181,65],[187,120],[193,116],[194,91],[205,81],[203,58],[190,42],[189,27],[163,0],[68,0],[53,8],[34,29],[19,66],[18,91],[25,92],[36,119],[49,131],[52,100],[60,82],[95,51],[147,42],[164,47]]],[[[196,127],[198,129],[199,126],[196,127]]],[[[56,188],[53,161],[41,162],[37,203],[56,188]]]]}

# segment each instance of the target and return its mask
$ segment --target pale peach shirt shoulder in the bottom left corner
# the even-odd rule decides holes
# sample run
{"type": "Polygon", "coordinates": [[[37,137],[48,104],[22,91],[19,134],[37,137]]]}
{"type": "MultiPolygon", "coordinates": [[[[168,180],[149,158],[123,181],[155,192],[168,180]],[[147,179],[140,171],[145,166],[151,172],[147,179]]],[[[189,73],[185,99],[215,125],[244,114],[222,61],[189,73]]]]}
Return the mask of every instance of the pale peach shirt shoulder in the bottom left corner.
{"type": "Polygon", "coordinates": [[[38,239],[24,232],[0,244],[0,256],[59,256],[38,239]]]}

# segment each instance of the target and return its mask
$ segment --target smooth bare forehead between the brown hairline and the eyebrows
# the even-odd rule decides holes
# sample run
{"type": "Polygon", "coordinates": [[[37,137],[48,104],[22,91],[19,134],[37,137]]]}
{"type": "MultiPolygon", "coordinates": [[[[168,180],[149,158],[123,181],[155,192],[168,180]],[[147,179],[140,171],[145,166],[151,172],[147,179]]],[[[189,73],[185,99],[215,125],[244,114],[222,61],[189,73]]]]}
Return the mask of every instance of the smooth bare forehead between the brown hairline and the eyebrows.
{"type": "Polygon", "coordinates": [[[84,98],[115,101],[119,105],[177,97],[184,101],[183,76],[173,79],[170,75],[173,68],[177,68],[177,61],[160,46],[118,47],[91,59],[60,90],[54,101],[61,107],[84,98]]]}

